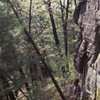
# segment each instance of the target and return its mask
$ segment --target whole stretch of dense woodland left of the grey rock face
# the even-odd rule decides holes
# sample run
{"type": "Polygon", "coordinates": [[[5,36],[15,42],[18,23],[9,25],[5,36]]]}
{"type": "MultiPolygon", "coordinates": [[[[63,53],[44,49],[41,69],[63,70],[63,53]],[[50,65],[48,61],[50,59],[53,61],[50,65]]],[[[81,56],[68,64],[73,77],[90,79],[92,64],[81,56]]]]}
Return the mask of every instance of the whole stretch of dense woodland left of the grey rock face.
{"type": "Polygon", "coordinates": [[[73,98],[75,6],[76,0],[0,0],[1,100],[60,100],[56,83],[73,98]]]}

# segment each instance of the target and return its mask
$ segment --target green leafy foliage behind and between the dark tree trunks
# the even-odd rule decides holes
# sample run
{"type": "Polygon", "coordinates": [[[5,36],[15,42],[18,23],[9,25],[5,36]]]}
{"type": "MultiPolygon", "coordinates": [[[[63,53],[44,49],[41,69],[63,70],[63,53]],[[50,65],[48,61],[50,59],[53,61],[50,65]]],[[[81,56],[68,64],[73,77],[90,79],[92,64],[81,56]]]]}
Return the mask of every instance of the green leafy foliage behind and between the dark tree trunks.
{"type": "MultiPolygon", "coordinates": [[[[29,30],[30,0],[11,0],[11,2],[23,21],[24,26],[29,30]]],[[[57,80],[59,79],[58,83],[62,87],[78,76],[74,69],[73,52],[79,29],[73,23],[73,13],[70,13],[68,19],[69,56],[66,57],[64,54],[63,24],[60,5],[56,0],[52,0],[52,9],[60,40],[59,48],[55,45],[47,6],[43,0],[32,0],[30,34],[35,40],[42,56],[45,58],[46,63],[50,66],[53,75],[57,80]],[[62,67],[65,67],[64,77],[61,71],[62,67]]],[[[69,10],[73,12],[73,6],[71,6],[69,10]]],[[[41,66],[43,65],[27,37],[23,34],[23,26],[19,24],[13,10],[6,0],[0,1],[0,23],[0,73],[6,73],[5,77],[13,91],[22,88],[22,86],[28,82],[30,91],[25,91],[26,87],[24,87],[25,95],[29,97],[29,100],[39,100],[44,92],[44,87],[40,81],[40,78],[43,79],[41,71],[41,66]],[[36,69],[34,69],[31,74],[30,68],[34,68],[34,64],[36,64],[38,71],[35,72],[34,70],[36,69]],[[20,68],[23,70],[23,75],[19,72],[20,68]],[[33,82],[31,80],[32,75],[36,79],[33,82]]],[[[48,79],[49,78],[46,78],[47,81],[48,79]]],[[[49,90],[51,87],[53,87],[52,82],[45,86],[45,90],[49,90]]],[[[53,94],[51,93],[51,95],[53,94]]]]}

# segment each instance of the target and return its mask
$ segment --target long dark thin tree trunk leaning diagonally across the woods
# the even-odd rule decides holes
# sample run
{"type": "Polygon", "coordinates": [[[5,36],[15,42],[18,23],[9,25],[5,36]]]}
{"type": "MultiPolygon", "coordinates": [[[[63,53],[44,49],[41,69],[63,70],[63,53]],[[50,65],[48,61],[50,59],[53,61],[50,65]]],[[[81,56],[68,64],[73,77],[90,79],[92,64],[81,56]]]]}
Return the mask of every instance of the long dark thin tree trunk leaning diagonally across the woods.
{"type": "MultiPolygon", "coordinates": [[[[9,0],[7,0],[7,1],[8,1],[9,4],[11,5],[11,7],[12,7],[12,9],[13,9],[13,11],[14,11],[16,17],[18,18],[20,24],[23,25],[23,22],[20,20],[20,18],[19,18],[19,16],[18,16],[18,14],[17,14],[17,12],[16,12],[16,10],[15,10],[13,4],[12,4],[9,0]]],[[[65,97],[64,97],[64,95],[63,95],[63,93],[62,93],[60,87],[58,86],[58,84],[57,84],[57,82],[56,82],[54,76],[52,75],[51,71],[49,70],[48,65],[46,64],[44,58],[41,56],[41,53],[39,52],[39,50],[38,50],[36,44],[34,43],[33,39],[31,38],[29,32],[27,31],[27,29],[26,29],[25,27],[24,27],[24,33],[25,33],[26,36],[28,37],[28,39],[29,39],[29,41],[31,42],[32,46],[34,47],[34,49],[35,49],[37,55],[40,57],[41,62],[43,63],[43,65],[45,66],[45,69],[46,69],[47,72],[49,73],[49,75],[50,75],[50,77],[51,77],[51,79],[52,79],[52,81],[53,81],[53,83],[54,83],[54,85],[55,85],[55,87],[56,87],[58,93],[60,94],[62,100],[65,100],[65,97]]]]}

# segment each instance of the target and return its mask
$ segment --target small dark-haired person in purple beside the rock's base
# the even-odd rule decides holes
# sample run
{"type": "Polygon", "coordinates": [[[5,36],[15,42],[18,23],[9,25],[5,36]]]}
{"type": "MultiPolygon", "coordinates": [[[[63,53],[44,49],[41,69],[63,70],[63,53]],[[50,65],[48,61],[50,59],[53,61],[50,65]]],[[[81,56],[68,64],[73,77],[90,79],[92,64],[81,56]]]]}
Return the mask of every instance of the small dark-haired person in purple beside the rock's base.
{"type": "Polygon", "coordinates": [[[75,79],[74,81],[74,100],[78,100],[79,96],[80,96],[79,79],[75,79]]]}

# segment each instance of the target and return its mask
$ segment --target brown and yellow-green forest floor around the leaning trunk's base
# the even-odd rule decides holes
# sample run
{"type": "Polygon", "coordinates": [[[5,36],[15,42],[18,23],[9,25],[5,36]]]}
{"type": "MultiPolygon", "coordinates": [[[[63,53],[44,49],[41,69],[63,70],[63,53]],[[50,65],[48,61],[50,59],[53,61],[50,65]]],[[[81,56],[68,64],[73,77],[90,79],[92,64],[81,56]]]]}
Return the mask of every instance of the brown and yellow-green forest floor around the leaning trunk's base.
{"type": "MultiPolygon", "coordinates": [[[[66,79],[58,79],[57,82],[66,97],[66,100],[73,100],[73,80],[70,80],[69,82],[66,82],[66,79]]],[[[38,95],[37,99],[32,100],[62,100],[59,93],[57,92],[54,84],[50,79],[43,79],[42,82],[42,93],[36,93],[38,95]]],[[[24,93],[26,92],[25,87],[22,88],[24,93]]],[[[27,92],[26,92],[27,94],[27,92]]],[[[20,98],[17,98],[17,100],[27,100],[27,98],[19,92],[20,98]]],[[[28,95],[27,95],[28,96],[28,95]]],[[[31,100],[31,99],[29,99],[31,100]]]]}

